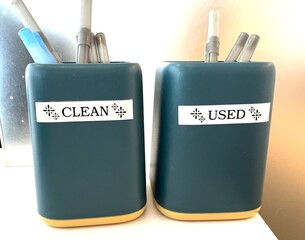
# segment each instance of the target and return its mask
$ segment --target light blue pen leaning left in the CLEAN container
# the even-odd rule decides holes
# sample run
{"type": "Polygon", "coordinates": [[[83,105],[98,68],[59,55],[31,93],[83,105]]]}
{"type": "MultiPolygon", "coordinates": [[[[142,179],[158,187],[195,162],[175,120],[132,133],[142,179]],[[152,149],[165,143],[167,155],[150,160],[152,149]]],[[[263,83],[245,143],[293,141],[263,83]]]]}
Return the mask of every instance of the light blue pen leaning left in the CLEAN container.
{"type": "Polygon", "coordinates": [[[29,51],[35,63],[57,63],[55,57],[48,50],[39,33],[23,28],[18,32],[23,44],[29,51]]]}

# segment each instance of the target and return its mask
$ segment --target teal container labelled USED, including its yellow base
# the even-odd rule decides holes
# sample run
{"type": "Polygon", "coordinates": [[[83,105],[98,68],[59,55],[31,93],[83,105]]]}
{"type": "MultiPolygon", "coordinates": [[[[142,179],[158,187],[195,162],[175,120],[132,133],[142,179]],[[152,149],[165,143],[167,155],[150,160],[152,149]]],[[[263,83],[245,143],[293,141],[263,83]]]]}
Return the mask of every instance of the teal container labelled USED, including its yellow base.
{"type": "Polygon", "coordinates": [[[259,211],[274,84],[268,62],[157,69],[151,183],[164,215],[222,220],[259,211]]]}

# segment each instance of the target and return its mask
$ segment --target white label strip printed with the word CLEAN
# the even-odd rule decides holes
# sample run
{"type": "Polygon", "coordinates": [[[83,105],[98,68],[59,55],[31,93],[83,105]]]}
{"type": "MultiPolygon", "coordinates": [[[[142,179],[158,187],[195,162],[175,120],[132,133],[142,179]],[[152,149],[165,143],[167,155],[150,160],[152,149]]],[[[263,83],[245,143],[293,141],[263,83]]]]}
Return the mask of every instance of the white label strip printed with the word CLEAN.
{"type": "Polygon", "coordinates": [[[35,108],[41,123],[133,119],[133,100],[35,102],[35,108]]]}

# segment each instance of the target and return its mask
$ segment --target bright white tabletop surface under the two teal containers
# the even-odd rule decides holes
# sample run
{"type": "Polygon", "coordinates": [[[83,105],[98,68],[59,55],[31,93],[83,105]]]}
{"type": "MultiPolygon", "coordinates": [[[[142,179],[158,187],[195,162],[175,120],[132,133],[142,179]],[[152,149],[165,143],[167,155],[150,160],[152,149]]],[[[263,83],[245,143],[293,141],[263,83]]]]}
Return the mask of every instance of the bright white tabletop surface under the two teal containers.
{"type": "Polygon", "coordinates": [[[277,239],[259,214],[234,221],[176,221],[153,203],[150,186],[145,212],[136,220],[94,227],[53,228],[36,211],[32,167],[0,166],[0,239],[277,239]]]}

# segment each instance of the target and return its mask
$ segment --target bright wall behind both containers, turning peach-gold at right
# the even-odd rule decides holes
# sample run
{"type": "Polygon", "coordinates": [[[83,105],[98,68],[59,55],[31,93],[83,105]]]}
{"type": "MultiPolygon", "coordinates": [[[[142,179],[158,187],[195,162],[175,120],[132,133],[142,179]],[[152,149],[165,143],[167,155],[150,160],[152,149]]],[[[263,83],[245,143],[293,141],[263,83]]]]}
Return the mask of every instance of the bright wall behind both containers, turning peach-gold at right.
{"type": "MultiPolygon", "coordinates": [[[[75,60],[79,0],[24,1],[62,58],[75,60]],[[61,39],[69,46],[63,46],[61,39]]],[[[147,160],[158,62],[203,60],[207,15],[213,7],[221,16],[220,60],[241,31],[261,36],[253,60],[272,61],[277,69],[261,214],[280,239],[303,239],[305,233],[305,14],[301,4],[298,0],[93,1],[93,31],[106,34],[111,60],[142,66],[147,160]]]]}

